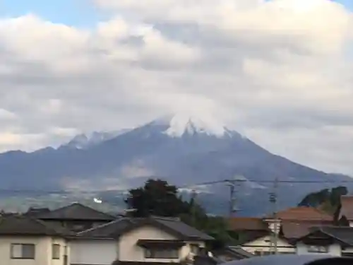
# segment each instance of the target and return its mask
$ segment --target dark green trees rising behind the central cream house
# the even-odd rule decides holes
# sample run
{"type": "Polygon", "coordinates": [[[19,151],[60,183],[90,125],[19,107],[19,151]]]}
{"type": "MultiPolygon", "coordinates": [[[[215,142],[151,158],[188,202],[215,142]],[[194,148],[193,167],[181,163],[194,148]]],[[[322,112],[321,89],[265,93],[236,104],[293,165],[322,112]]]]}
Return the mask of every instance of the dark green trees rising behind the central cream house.
{"type": "Polygon", "coordinates": [[[164,180],[148,179],[143,187],[129,190],[125,203],[129,209],[134,210],[131,211],[131,216],[134,217],[181,218],[185,223],[215,237],[215,242],[210,246],[212,249],[234,241],[229,235],[224,218],[208,216],[194,199],[184,201],[179,196],[177,187],[164,180]]]}

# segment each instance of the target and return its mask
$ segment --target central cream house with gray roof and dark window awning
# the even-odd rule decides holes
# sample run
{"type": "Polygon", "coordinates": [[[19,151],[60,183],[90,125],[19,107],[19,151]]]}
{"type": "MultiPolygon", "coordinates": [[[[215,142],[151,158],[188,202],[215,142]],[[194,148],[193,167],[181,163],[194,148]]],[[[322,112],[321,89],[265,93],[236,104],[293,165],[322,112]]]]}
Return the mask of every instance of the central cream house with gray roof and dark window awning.
{"type": "Polygon", "coordinates": [[[71,265],[192,263],[213,237],[177,218],[120,218],[71,240],[71,265]]]}

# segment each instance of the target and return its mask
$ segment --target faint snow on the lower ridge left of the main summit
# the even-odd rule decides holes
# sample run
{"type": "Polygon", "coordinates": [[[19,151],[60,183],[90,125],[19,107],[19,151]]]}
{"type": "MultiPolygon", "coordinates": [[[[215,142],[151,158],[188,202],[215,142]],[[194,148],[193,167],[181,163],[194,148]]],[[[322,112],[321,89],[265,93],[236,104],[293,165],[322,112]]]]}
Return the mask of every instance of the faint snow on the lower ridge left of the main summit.
{"type": "Polygon", "coordinates": [[[119,131],[93,131],[90,134],[78,134],[64,146],[76,149],[85,149],[90,146],[97,145],[103,141],[114,139],[116,136],[126,133],[129,129],[121,129],[119,131]]]}

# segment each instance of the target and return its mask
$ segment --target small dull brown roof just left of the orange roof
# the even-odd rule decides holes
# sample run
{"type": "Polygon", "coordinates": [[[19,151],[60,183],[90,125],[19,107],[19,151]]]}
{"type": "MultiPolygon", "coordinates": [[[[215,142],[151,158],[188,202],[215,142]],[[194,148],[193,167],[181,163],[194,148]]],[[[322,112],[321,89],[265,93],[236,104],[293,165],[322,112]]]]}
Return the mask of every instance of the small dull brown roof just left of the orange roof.
{"type": "Polygon", "coordinates": [[[230,218],[229,230],[268,230],[268,224],[266,224],[261,218],[254,217],[235,217],[230,218]]]}

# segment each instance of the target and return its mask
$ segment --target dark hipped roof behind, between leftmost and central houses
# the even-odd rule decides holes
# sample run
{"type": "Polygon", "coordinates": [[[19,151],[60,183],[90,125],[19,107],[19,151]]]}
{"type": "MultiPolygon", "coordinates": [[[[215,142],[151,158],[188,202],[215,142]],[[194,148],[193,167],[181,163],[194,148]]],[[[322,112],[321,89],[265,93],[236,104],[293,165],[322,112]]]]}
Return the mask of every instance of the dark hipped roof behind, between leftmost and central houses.
{"type": "Polygon", "coordinates": [[[102,213],[83,204],[70,204],[47,213],[39,213],[36,218],[41,220],[91,220],[112,221],[116,218],[107,213],[102,213]]]}

